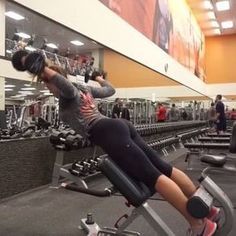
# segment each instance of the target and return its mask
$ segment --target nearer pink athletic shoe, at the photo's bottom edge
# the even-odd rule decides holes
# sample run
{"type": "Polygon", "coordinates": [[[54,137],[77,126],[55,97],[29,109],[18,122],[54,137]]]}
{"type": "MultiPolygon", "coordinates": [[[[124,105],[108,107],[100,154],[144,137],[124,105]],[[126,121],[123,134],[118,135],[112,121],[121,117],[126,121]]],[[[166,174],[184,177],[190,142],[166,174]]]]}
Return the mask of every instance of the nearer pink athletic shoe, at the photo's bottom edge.
{"type": "Polygon", "coordinates": [[[205,219],[202,227],[188,229],[187,236],[213,236],[216,229],[217,224],[215,222],[205,219]]]}

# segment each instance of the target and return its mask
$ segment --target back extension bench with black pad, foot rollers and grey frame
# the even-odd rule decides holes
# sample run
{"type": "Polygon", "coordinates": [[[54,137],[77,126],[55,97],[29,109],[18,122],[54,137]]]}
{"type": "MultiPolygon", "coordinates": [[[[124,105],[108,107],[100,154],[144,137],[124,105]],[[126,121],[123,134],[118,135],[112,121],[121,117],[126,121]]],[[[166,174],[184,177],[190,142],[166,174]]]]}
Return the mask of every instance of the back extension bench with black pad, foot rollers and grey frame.
{"type": "MultiPolygon", "coordinates": [[[[126,198],[129,205],[134,206],[131,214],[125,215],[123,223],[116,222],[115,228],[100,228],[88,214],[87,218],[81,220],[81,228],[88,236],[91,235],[140,235],[138,232],[125,230],[140,215],[155,230],[156,235],[174,236],[175,234],[160,218],[160,216],[149,206],[147,200],[154,194],[144,183],[137,182],[127,176],[109,157],[101,158],[99,168],[110,180],[114,187],[126,198]]],[[[233,205],[227,195],[203,172],[199,179],[200,187],[188,203],[189,213],[194,217],[204,217],[209,213],[213,200],[216,200],[224,212],[225,220],[220,222],[221,226],[216,231],[216,236],[228,235],[234,222],[233,205]],[[201,211],[202,210],[202,211],[201,211]]]]}

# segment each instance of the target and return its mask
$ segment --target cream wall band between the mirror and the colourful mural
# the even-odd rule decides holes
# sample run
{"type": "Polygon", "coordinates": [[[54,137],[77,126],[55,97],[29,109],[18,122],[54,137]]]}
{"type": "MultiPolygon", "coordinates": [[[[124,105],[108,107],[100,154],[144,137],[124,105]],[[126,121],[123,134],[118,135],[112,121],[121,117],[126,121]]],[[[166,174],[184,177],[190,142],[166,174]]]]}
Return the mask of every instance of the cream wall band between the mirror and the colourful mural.
{"type": "Polygon", "coordinates": [[[57,0],[51,0],[47,4],[42,4],[39,0],[15,0],[15,2],[181,84],[186,84],[203,94],[206,93],[203,81],[97,0],[71,0],[70,4],[62,1],[57,11],[55,11],[57,0]]]}

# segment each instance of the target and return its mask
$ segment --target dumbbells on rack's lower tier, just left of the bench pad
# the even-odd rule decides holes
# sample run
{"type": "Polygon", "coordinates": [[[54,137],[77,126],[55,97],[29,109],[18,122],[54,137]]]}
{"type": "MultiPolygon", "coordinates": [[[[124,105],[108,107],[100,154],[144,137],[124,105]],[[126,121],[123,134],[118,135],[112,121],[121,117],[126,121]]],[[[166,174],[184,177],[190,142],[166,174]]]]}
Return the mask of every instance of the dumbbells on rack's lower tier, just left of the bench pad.
{"type": "Polygon", "coordinates": [[[88,175],[95,174],[96,172],[99,171],[98,157],[94,159],[76,161],[72,164],[69,171],[72,175],[79,176],[79,177],[85,177],[88,175]]]}

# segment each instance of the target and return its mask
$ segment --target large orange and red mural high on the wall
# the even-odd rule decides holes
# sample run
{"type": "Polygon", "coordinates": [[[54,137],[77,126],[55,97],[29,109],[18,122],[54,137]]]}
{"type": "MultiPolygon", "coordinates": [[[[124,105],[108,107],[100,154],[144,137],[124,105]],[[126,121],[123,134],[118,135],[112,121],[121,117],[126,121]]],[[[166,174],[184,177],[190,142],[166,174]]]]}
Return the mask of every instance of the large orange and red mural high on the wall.
{"type": "Polygon", "coordinates": [[[204,80],[205,38],[185,0],[100,1],[204,80]]]}

